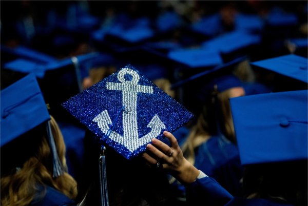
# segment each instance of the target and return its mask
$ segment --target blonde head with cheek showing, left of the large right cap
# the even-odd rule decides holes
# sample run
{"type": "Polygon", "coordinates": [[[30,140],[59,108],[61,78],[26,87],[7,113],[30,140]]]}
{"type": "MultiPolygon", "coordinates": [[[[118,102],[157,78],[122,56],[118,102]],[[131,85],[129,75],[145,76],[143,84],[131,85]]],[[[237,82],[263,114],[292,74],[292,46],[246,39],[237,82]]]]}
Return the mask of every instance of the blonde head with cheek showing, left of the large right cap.
{"type": "Polygon", "coordinates": [[[204,102],[196,124],[191,128],[182,150],[186,158],[195,162],[194,150],[221,130],[230,141],[236,142],[229,98],[244,96],[243,87],[232,87],[222,92],[213,89],[211,97],[204,102]]]}

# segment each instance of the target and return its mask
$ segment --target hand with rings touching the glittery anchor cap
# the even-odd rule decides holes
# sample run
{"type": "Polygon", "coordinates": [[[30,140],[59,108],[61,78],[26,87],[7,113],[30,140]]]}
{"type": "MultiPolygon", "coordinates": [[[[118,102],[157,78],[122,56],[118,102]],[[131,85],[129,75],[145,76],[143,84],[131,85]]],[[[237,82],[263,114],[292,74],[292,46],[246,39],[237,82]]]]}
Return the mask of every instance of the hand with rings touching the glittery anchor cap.
{"type": "Polygon", "coordinates": [[[171,147],[159,139],[153,138],[152,145],[148,144],[147,150],[156,158],[147,153],[143,153],[143,158],[148,163],[167,170],[184,184],[194,182],[200,171],[185,159],[175,136],[167,131],[164,132],[164,135],[170,141],[171,147]]]}

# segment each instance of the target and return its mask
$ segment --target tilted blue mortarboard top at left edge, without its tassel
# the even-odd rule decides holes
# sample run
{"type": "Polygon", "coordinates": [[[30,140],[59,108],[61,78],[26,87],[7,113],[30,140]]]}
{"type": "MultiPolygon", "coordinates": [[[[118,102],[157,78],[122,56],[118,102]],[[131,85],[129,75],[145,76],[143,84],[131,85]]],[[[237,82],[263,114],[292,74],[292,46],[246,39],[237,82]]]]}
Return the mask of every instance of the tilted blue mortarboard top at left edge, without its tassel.
{"type": "Polygon", "coordinates": [[[1,91],[1,147],[48,120],[50,115],[33,74],[1,91]]]}

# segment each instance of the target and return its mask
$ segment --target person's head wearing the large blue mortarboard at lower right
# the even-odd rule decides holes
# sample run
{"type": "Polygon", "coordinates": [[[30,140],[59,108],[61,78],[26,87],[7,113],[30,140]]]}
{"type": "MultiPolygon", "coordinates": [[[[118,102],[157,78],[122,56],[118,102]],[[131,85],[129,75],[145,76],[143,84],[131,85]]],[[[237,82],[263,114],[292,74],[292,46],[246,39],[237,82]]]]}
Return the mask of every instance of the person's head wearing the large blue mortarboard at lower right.
{"type": "Polygon", "coordinates": [[[248,198],[307,205],[307,90],[230,99],[248,198]]]}

